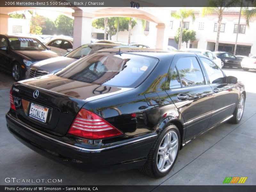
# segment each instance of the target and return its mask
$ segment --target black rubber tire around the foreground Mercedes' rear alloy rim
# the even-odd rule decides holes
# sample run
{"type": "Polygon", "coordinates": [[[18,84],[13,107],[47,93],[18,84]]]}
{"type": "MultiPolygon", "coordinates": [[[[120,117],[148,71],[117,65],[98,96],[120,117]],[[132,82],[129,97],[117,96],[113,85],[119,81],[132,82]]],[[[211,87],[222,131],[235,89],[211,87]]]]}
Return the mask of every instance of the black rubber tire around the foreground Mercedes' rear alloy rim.
{"type": "Polygon", "coordinates": [[[156,178],[164,177],[172,170],[172,167],[175,164],[176,159],[179,155],[179,150],[180,150],[180,132],[174,124],[170,124],[164,130],[162,130],[160,135],[157,137],[156,142],[154,143],[154,145],[152,146],[151,150],[148,153],[147,162],[139,169],[140,172],[142,172],[143,174],[149,175],[151,177],[156,177],[156,178]],[[177,150],[176,156],[175,156],[171,166],[168,168],[168,170],[166,170],[165,172],[160,172],[157,167],[158,150],[159,150],[161,143],[163,142],[164,137],[167,135],[167,133],[170,133],[171,131],[175,132],[177,134],[178,150],[177,150]]]}

